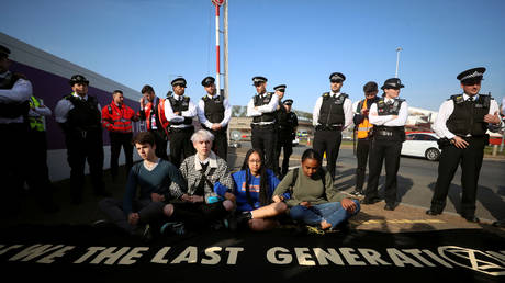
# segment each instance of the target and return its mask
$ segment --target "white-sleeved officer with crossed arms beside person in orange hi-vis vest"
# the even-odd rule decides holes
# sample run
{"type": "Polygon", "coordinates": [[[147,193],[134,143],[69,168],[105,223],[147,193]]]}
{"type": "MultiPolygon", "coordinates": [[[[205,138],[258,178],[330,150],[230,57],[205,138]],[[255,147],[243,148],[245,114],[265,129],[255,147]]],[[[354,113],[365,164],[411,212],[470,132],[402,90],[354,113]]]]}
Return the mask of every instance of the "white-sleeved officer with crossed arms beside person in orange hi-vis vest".
{"type": "Polygon", "coordinates": [[[400,152],[405,142],[405,123],[408,117],[408,105],[399,99],[402,81],[397,78],[388,79],[381,89],[384,91],[370,107],[368,116],[373,124],[372,140],[370,144],[369,177],[362,204],[379,202],[378,185],[382,171],[382,161],[385,163],[385,206],[386,211],[394,211],[396,204],[397,172],[400,168],[400,152]]]}

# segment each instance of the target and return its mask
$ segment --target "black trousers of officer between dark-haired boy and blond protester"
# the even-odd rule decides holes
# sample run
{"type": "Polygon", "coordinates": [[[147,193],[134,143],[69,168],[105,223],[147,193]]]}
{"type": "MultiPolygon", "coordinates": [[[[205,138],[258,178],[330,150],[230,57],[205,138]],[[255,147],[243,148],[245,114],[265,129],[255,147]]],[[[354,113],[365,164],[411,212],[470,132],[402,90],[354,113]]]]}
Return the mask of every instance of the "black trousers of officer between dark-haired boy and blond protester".
{"type": "Polygon", "coordinates": [[[170,162],[177,168],[179,168],[186,158],[195,152],[191,143],[193,133],[194,127],[170,129],[170,162]]]}

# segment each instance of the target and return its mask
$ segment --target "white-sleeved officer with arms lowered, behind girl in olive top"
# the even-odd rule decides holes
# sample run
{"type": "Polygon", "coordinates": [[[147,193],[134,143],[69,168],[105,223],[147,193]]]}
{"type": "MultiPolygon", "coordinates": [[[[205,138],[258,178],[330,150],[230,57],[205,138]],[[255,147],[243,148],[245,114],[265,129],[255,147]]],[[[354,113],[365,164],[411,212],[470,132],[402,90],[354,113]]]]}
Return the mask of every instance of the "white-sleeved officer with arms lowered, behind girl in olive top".
{"type": "Polygon", "coordinates": [[[315,127],[314,150],[326,152],[327,170],[335,179],[341,131],[352,123],[352,102],[340,89],[346,80],[341,72],[329,75],[332,91],[323,93],[315,103],[312,124],[315,127]]]}

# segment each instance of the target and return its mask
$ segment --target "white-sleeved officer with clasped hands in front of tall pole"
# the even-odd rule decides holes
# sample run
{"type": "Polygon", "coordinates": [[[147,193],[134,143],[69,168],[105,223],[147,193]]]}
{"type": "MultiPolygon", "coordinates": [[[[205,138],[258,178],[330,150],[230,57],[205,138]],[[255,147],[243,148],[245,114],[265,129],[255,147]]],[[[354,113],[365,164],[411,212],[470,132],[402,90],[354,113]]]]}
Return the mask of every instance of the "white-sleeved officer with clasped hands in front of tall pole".
{"type": "Polygon", "coordinates": [[[198,103],[198,117],[203,128],[214,135],[213,151],[224,160],[228,155],[227,128],[232,117],[228,100],[216,93],[213,77],[202,80],[206,94],[198,103]]]}

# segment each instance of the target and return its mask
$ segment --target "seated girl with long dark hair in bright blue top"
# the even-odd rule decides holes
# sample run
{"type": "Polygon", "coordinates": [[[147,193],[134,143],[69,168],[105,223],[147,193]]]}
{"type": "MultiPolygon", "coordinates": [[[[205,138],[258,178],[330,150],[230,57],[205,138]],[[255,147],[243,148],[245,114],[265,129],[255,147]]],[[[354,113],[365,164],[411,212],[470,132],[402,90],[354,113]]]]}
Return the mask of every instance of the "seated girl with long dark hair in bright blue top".
{"type": "Polygon", "coordinates": [[[249,149],[240,171],[232,174],[235,181],[233,193],[236,196],[237,223],[247,224],[251,230],[269,230],[279,226],[276,216],[283,214],[288,206],[276,197],[273,190],[279,179],[272,170],[267,169],[260,149],[249,149]]]}

